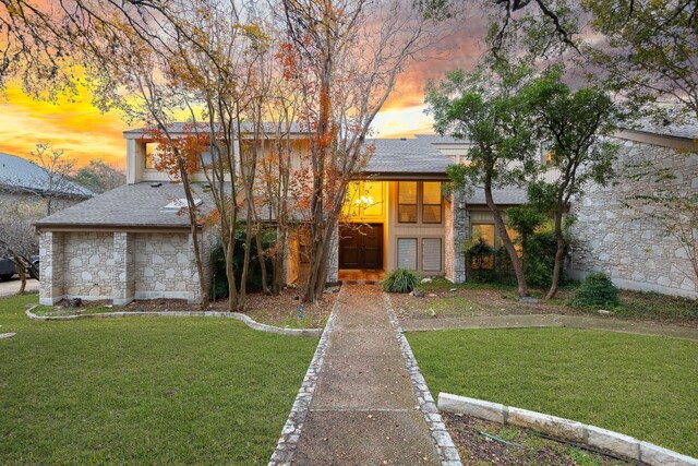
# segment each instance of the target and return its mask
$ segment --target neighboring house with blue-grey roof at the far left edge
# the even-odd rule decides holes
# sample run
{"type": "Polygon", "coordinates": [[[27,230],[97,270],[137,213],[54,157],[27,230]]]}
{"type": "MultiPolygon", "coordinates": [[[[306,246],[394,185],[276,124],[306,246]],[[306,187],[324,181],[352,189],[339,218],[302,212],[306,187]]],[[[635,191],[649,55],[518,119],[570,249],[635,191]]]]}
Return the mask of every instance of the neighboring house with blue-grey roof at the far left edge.
{"type": "Polygon", "coordinates": [[[60,211],[94,195],[68,179],[51,175],[26,158],[0,153],[0,202],[46,203],[60,211]]]}

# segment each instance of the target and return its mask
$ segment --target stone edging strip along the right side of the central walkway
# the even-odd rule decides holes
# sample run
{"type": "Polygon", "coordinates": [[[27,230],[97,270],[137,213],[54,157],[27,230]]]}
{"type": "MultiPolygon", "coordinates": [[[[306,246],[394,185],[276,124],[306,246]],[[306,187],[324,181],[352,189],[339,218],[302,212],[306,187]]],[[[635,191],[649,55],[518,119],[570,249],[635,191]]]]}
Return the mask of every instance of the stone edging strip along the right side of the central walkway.
{"type": "Polygon", "coordinates": [[[429,426],[429,431],[432,435],[432,440],[434,441],[434,446],[438,454],[441,464],[442,466],[462,466],[458,450],[456,450],[456,445],[454,445],[454,441],[446,430],[446,426],[438,414],[438,408],[434,403],[434,398],[426,386],[426,381],[424,381],[424,377],[419,370],[419,366],[417,365],[417,360],[412,354],[412,348],[402,333],[397,315],[395,315],[395,312],[393,311],[390,298],[388,298],[385,292],[383,294],[383,301],[390,319],[393,330],[395,331],[395,336],[400,345],[402,358],[405,359],[405,367],[407,368],[407,371],[410,374],[410,381],[412,382],[412,391],[419,401],[419,409],[422,411],[422,415],[424,415],[424,420],[426,421],[426,426],[429,426]]]}

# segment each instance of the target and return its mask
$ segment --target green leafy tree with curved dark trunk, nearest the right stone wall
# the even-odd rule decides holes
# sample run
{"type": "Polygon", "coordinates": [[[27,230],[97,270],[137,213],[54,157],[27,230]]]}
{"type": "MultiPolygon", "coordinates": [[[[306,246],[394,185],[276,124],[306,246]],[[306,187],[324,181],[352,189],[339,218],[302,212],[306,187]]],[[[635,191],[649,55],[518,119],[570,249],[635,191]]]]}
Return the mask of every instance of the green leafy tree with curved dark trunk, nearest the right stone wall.
{"type": "Polygon", "coordinates": [[[550,144],[547,168],[559,171],[555,181],[540,179],[529,186],[529,202],[550,213],[557,243],[546,299],[557,292],[565,260],[563,216],[573,195],[583,193],[587,183],[605,184],[613,178],[618,147],[606,138],[613,135],[622,118],[617,105],[603,88],[588,86],[573,91],[563,83],[562,73],[562,67],[553,67],[522,93],[534,118],[537,138],[550,144]]]}

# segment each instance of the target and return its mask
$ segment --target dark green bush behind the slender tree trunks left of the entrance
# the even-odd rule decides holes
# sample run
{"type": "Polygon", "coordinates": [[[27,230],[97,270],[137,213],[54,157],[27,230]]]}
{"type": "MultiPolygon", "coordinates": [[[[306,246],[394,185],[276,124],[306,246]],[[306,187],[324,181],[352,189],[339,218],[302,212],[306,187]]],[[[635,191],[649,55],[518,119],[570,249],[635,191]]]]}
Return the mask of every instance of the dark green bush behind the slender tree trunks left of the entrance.
{"type": "MultiPolygon", "coordinates": [[[[236,275],[236,286],[240,289],[242,267],[244,265],[244,241],[245,231],[239,229],[236,231],[236,249],[232,258],[232,270],[236,275]]],[[[262,247],[264,249],[270,248],[276,242],[274,230],[265,231],[262,235],[262,247]]],[[[270,258],[265,259],[267,284],[272,284],[274,262],[270,258]]],[[[228,290],[228,276],[226,274],[226,253],[222,249],[222,243],[218,243],[210,253],[210,266],[212,266],[212,298],[227,298],[228,290]]],[[[257,255],[256,241],[252,240],[252,247],[250,250],[250,271],[248,272],[248,291],[261,291],[262,287],[262,266],[260,265],[260,258],[257,255]]]]}

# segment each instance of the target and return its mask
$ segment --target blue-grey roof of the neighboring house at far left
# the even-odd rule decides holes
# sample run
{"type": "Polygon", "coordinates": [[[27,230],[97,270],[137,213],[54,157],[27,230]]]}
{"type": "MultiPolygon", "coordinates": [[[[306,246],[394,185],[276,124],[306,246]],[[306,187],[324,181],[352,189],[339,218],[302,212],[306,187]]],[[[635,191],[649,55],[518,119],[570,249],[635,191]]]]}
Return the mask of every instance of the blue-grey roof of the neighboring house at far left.
{"type": "MultiPolygon", "coordinates": [[[[38,165],[26,158],[0,153],[0,184],[37,193],[46,192],[49,188],[48,176],[38,165]]],[[[63,180],[53,188],[55,194],[92,198],[94,193],[69,180],[63,180]]]]}

